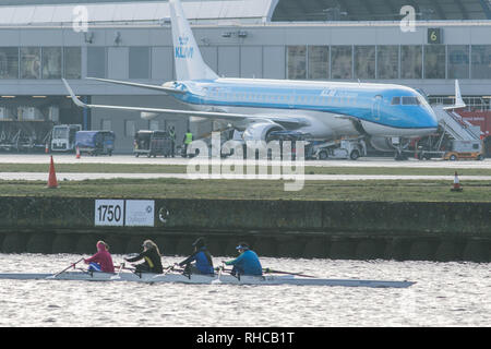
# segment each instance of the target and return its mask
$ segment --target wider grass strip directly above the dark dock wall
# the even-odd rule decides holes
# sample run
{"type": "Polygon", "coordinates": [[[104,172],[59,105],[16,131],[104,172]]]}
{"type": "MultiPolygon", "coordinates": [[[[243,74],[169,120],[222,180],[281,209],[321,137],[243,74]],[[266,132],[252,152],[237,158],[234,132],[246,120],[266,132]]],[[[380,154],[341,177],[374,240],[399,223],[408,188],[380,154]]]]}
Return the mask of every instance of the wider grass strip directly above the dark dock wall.
{"type": "Polygon", "coordinates": [[[491,183],[460,181],[464,191],[451,191],[450,181],[312,181],[301,191],[286,192],[285,181],[111,179],[59,181],[0,181],[0,196],[70,196],[132,198],[295,200],[372,202],[491,202],[491,183]]]}

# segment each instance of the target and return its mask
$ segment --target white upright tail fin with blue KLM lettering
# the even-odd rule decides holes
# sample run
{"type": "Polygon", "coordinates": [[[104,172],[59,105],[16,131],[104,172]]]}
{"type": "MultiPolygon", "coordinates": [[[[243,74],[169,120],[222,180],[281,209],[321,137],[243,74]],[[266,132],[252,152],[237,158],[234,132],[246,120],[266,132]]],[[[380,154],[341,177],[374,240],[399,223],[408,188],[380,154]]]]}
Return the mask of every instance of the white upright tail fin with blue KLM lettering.
{"type": "Polygon", "coordinates": [[[179,0],[169,0],[169,10],[177,80],[218,79],[218,75],[206,65],[201,56],[200,48],[184,16],[181,2],[179,0]]]}

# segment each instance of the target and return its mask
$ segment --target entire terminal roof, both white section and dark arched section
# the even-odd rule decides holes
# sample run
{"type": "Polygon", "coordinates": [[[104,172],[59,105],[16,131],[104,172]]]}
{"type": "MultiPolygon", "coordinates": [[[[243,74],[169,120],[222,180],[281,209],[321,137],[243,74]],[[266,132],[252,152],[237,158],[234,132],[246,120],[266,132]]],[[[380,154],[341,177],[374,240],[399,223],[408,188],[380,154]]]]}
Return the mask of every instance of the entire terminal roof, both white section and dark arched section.
{"type": "MultiPolygon", "coordinates": [[[[193,24],[399,21],[410,5],[423,21],[491,20],[491,0],[181,0],[193,24]]],[[[89,23],[154,23],[169,17],[161,0],[0,0],[0,25],[69,24],[86,5],[89,23]]]]}

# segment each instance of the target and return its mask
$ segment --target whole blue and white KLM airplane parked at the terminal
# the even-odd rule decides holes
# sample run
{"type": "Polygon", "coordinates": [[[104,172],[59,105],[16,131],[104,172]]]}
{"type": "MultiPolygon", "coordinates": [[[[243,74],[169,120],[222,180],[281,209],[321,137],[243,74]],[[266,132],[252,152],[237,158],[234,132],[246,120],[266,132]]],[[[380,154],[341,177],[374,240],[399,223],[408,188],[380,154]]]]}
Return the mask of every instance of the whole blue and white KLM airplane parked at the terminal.
{"type": "MultiPolygon", "coordinates": [[[[204,62],[179,0],[169,0],[177,81],[161,86],[93,79],[166,93],[192,110],[87,105],[83,108],[141,111],[221,120],[243,131],[244,141],[265,141],[273,131],[297,131],[312,139],[367,136],[387,151],[392,139],[408,140],[434,133],[438,120],[416,89],[393,84],[228,79],[204,62]]],[[[399,142],[396,142],[400,144],[399,142]]]]}

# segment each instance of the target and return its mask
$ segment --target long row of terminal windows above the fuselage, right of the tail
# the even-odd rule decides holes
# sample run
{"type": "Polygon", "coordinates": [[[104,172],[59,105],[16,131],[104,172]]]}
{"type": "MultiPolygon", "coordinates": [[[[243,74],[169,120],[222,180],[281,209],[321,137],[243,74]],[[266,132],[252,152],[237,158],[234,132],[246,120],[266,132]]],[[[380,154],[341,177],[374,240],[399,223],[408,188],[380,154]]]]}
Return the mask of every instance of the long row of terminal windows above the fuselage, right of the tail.
{"type": "Polygon", "coordinates": [[[287,46],[290,80],[491,79],[491,45],[287,46]]]}

